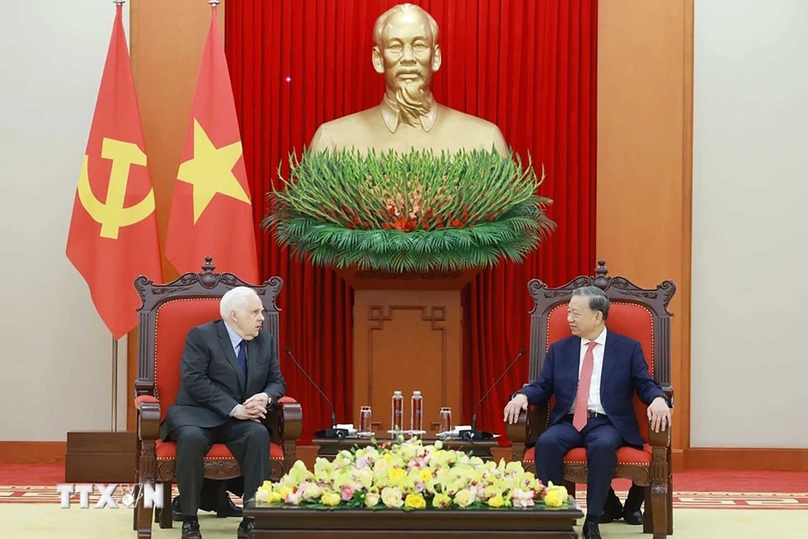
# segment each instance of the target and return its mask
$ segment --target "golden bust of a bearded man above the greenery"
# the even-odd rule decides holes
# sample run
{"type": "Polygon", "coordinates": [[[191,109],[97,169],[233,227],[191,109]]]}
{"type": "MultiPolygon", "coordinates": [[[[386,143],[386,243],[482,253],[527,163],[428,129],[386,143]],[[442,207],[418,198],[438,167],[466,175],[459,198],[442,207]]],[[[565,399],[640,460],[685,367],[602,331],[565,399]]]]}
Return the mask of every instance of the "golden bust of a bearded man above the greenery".
{"type": "Polygon", "coordinates": [[[321,125],[312,151],[373,148],[401,153],[431,148],[495,149],[508,154],[499,128],[491,122],[444,107],[432,96],[432,74],[440,68],[438,25],[421,7],[400,4],[383,13],[373,28],[373,67],[384,75],[382,102],[373,108],[321,125]]]}

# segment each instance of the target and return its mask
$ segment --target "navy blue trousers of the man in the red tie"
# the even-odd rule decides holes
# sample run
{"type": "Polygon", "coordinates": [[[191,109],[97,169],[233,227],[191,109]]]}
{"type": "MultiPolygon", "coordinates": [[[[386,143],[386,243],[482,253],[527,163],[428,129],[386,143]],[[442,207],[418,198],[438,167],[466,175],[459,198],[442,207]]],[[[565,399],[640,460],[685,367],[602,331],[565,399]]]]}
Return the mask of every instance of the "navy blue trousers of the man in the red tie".
{"type": "Polygon", "coordinates": [[[564,455],[576,447],[586,448],[589,476],[586,481],[586,514],[599,517],[603,513],[617,468],[617,449],[629,445],[609,418],[590,418],[586,427],[578,432],[572,426],[572,415],[567,415],[544,431],[536,441],[536,476],[545,484],[564,481],[564,455]]]}

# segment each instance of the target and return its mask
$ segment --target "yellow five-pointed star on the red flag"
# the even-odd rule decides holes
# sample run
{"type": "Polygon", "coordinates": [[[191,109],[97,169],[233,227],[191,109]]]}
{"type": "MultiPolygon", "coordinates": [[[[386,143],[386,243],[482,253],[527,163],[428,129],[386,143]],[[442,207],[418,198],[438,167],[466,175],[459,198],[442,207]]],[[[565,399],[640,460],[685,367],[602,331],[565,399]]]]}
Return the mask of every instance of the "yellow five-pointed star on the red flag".
{"type": "Polygon", "coordinates": [[[180,165],[177,179],[194,186],[194,224],[216,193],[250,204],[250,197],[233,174],[241,157],[241,141],[217,148],[194,118],[194,157],[180,165]]]}

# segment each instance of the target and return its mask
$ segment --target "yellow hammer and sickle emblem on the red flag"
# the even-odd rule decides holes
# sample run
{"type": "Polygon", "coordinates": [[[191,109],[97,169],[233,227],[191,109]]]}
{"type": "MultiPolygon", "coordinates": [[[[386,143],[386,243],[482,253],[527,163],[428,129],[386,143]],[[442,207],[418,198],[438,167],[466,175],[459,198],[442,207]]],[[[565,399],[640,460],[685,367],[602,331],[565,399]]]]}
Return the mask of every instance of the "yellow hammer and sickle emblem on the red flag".
{"type": "Polygon", "coordinates": [[[90,187],[88,156],[84,156],[79,176],[79,200],[96,223],[101,225],[101,237],[118,239],[121,227],[139,223],[154,211],[154,190],[134,206],[124,207],[126,184],[129,182],[129,168],[132,165],[146,166],[146,154],[137,144],[104,138],[101,144],[101,157],[112,161],[105,202],[95,198],[90,187]]]}

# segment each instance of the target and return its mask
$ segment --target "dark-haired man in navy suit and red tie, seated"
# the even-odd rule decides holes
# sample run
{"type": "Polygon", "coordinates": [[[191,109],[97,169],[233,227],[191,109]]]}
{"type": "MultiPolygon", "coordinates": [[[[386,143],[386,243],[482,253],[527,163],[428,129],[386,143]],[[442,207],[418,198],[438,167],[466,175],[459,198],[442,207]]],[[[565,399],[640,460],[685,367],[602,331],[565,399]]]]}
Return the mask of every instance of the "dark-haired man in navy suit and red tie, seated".
{"type": "Polygon", "coordinates": [[[541,375],[505,406],[505,421],[515,423],[528,404],[544,404],[555,395],[548,428],[536,441],[536,475],[545,484],[562,484],[564,455],[586,448],[584,539],[601,539],[598,520],[617,467],[617,449],[643,445],[634,393],[648,405],[655,431],[670,424],[667,397],[648,373],[640,343],[607,331],[608,316],[609,298],[600,288],[574,290],[567,312],[572,336],[550,346],[541,375]]]}

